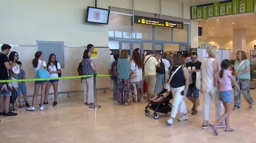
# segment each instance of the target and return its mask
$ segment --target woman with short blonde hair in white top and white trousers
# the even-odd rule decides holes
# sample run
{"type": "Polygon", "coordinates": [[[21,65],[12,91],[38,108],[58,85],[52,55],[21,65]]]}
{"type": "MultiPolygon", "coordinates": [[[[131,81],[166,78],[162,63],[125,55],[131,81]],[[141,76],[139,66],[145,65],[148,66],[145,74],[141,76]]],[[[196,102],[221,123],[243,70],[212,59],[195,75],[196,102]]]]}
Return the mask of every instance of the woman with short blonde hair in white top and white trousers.
{"type": "MultiPolygon", "coordinates": [[[[202,125],[203,129],[211,127],[209,123],[210,118],[210,108],[211,101],[214,101],[216,108],[216,117],[219,120],[220,116],[223,114],[223,104],[219,101],[217,87],[214,86],[214,75],[219,72],[219,62],[216,60],[218,55],[218,48],[211,45],[207,48],[208,57],[202,60],[202,92],[204,95],[204,123],[202,125]]],[[[219,127],[225,127],[219,125],[219,127]]]]}

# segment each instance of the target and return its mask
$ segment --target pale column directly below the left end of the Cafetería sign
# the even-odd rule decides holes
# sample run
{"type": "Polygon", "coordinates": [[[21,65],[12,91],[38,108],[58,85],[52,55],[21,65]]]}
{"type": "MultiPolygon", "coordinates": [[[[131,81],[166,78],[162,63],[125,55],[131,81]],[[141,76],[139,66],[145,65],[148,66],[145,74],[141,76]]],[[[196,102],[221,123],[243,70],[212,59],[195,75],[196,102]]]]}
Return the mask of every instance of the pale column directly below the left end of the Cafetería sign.
{"type": "Polygon", "coordinates": [[[198,48],[198,22],[191,20],[189,26],[189,45],[192,48],[198,48]]]}

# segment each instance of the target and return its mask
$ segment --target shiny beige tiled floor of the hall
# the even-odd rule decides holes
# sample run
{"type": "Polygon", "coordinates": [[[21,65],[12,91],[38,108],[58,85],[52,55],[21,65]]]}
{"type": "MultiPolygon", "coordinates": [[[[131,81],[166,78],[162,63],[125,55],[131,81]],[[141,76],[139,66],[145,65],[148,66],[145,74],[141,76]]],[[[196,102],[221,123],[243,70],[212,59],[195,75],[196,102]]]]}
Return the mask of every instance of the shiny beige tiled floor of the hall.
{"type": "MultiPolygon", "coordinates": [[[[182,123],[175,120],[173,126],[165,123],[169,114],[161,114],[158,120],[153,115],[146,117],[145,101],[117,105],[111,100],[111,93],[98,94],[102,108],[90,109],[83,104],[81,95],[60,98],[57,107],[49,105],[45,111],[21,108],[16,117],[0,117],[0,142],[256,142],[256,107],[248,109],[244,100],[242,109],[233,111],[230,117],[236,132],[219,129],[220,135],[214,136],[211,129],[201,129],[202,95],[198,115],[190,114],[189,120],[182,123]]],[[[251,95],[255,99],[256,90],[251,95]]],[[[192,104],[186,103],[189,111],[192,104]]],[[[213,121],[214,105],[211,111],[213,121]]]]}

